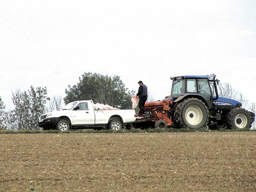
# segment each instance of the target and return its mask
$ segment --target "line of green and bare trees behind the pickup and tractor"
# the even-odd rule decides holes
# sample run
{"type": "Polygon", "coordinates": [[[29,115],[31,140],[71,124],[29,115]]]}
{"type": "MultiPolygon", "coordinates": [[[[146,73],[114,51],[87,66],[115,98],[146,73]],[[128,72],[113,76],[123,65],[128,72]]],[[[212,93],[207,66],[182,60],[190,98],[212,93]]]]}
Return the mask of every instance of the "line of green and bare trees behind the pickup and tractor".
{"type": "MultiPolygon", "coordinates": [[[[218,86],[219,96],[235,99],[243,104],[249,104],[243,95],[236,91],[228,83],[220,83],[218,86]]],[[[0,97],[0,129],[40,129],[37,126],[38,118],[45,112],[61,110],[64,104],[77,100],[93,100],[95,103],[104,103],[120,109],[130,109],[132,107],[131,95],[135,91],[125,87],[120,76],[108,76],[97,73],[84,73],[79,77],[76,85],[65,89],[65,97],[47,97],[46,87],[31,86],[27,91],[17,89],[12,92],[12,102],[14,109],[6,111],[5,105],[0,97]]],[[[154,98],[150,94],[148,101],[154,98]]],[[[255,113],[255,103],[249,108],[255,113]]],[[[255,122],[253,128],[255,128],[255,122]]]]}

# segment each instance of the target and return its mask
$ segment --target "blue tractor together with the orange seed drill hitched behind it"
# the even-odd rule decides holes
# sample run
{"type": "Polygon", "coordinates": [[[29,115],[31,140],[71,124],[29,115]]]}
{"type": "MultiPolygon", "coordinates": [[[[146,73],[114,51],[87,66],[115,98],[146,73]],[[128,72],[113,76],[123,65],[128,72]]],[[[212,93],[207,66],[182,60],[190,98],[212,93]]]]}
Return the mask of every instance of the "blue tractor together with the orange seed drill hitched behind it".
{"type": "Polygon", "coordinates": [[[155,127],[249,129],[255,114],[242,108],[242,103],[219,97],[216,75],[171,77],[171,95],[162,101],[145,103],[144,117],[137,123],[151,121],[155,127]],[[215,95],[214,95],[215,93],[215,95]]]}

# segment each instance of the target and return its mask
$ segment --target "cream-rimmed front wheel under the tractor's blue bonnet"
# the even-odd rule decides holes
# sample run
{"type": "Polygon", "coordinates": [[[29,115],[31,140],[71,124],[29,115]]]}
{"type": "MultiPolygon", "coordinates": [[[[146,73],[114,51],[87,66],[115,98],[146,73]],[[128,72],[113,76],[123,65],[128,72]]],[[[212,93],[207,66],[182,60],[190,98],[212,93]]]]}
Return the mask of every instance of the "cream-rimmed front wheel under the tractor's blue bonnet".
{"type": "Polygon", "coordinates": [[[233,108],[227,116],[228,127],[231,129],[246,130],[250,129],[252,117],[244,108],[233,108]]]}

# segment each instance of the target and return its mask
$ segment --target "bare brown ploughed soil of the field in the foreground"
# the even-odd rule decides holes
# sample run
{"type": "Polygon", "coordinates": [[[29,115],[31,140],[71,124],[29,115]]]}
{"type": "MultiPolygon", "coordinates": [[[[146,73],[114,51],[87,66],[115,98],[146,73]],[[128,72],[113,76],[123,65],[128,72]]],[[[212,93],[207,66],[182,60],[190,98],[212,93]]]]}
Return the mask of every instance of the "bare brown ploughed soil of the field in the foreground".
{"type": "Polygon", "coordinates": [[[0,135],[0,191],[256,191],[256,132],[0,135]]]}

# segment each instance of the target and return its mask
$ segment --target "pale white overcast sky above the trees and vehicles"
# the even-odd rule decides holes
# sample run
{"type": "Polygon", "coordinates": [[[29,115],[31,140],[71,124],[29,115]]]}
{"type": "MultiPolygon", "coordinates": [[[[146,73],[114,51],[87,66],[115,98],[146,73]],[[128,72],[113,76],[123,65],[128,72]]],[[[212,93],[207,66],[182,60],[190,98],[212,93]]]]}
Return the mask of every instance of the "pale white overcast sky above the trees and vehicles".
{"type": "MultiPolygon", "coordinates": [[[[215,73],[256,102],[256,1],[0,0],[0,97],[65,88],[84,72],[142,80],[156,100],[170,76],[215,73]]],[[[85,98],[86,99],[86,98],[85,98]]]]}

